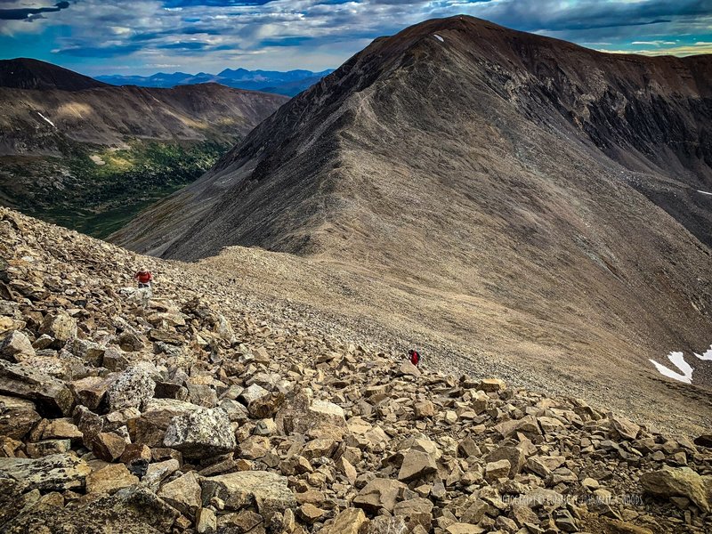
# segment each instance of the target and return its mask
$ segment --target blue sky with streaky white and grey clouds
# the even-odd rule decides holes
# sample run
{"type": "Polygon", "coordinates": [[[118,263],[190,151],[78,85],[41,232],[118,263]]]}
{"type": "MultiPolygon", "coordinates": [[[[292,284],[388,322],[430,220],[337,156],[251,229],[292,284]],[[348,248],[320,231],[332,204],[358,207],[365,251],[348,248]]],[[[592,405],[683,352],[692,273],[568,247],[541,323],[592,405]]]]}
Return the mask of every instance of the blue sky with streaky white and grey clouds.
{"type": "Polygon", "coordinates": [[[598,50],[712,53],[712,0],[0,0],[0,58],[91,76],[321,70],[458,13],[598,50]]]}

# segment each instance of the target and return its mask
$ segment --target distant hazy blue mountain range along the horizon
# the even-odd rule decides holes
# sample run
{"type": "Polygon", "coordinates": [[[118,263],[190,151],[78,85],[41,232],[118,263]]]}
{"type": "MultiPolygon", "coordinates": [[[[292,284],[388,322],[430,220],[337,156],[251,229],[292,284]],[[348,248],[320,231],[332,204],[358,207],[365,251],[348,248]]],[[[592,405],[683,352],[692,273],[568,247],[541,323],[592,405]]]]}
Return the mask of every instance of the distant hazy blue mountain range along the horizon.
{"type": "Polygon", "coordinates": [[[322,70],[321,72],[312,72],[311,70],[279,72],[277,70],[224,69],[218,74],[208,74],[206,72],[198,72],[198,74],[174,72],[168,74],[158,72],[147,77],[109,75],[99,76],[96,79],[111,85],[139,85],[141,87],[174,87],[176,85],[195,85],[212,82],[247,91],[263,91],[295,96],[333,71],[334,69],[322,70]]]}

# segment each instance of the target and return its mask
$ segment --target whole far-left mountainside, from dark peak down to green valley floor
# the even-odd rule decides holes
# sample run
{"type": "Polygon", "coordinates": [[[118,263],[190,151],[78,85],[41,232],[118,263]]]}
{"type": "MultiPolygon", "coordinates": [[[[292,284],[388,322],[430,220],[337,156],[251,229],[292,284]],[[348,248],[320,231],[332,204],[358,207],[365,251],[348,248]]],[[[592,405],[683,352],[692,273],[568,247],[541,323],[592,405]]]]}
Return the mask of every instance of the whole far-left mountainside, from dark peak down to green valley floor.
{"type": "Polygon", "coordinates": [[[100,236],[198,178],[287,101],[216,84],[91,85],[39,61],[25,76],[17,63],[0,65],[10,73],[0,86],[0,202],[100,236]]]}

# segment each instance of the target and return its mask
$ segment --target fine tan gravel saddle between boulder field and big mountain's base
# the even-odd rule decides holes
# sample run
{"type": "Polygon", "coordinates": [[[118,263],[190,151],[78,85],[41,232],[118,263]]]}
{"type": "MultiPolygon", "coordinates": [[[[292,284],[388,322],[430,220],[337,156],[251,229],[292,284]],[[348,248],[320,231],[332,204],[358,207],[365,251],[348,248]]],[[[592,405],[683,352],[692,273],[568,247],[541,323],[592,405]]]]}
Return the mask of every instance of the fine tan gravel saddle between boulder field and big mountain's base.
{"type": "MultiPolygon", "coordinates": [[[[409,348],[417,347],[424,356],[424,364],[430,368],[476,378],[498,376],[509,384],[548,395],[580,397],[593,406],[609,407],[666,433],[697,435],[712,428],[712,394],[705,388],[676,383],[635,365],[582,368],[579,362],[569,365],[561,358],[547,361],[546,354],[544,358],[531,358],[531,350],[517,356],[498,347],[468,344],[447,330],[423,328],[415,321],[396,319],[390,310],[381,309],[377,303],[355,310],[353,301],[359,300],[363,288],[358,276],[349,280],[344,278],[343,270],[332,276],[328,272],[330,267],[320,264],[321,279],[329,283],[316,290],[310,281],[317,280],[313,279],[306,261],[256,248],[239,248],[235,252],[238,250],[243,260],[240,263],[222,255],[201,263],[161,261],[157,267],[174,271],[174,276],[182,271],[187,286],[225,295],[225,303],[238,303],[239,309],[223,310],[233,319],[239,318],[241,309],[277,328],[312,330],[384,352],[405,354],[409,348]],[[271,262],[271,269],[246,267],[244,255],[255,256],[258,263],[271,262]],[[236,271],[237,264],[243,271],[236,271]],[[274,272],[279,268],[288,269],[293,284],[303,291],[275,283],[274,272]],[[323,297],[325,292],[335,295],[345,292],[354,298],[341,300],[340,307],[335,309],[323,297]]],[[[387,295],[384,302],[388,302],[387,295]]]]}

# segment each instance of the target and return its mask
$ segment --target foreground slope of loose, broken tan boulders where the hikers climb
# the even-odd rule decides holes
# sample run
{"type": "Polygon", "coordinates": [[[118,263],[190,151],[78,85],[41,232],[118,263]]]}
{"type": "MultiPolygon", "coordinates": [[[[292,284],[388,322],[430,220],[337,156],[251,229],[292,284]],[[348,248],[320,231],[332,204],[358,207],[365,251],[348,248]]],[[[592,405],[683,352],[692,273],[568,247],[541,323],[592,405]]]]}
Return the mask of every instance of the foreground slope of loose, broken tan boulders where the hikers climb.
{"type": "Polygon", "coordinates": [[[4,208],[0,258],[5,533],[712,530],[710,435],[265,320],[4,208]]]}

